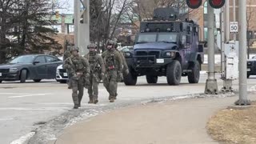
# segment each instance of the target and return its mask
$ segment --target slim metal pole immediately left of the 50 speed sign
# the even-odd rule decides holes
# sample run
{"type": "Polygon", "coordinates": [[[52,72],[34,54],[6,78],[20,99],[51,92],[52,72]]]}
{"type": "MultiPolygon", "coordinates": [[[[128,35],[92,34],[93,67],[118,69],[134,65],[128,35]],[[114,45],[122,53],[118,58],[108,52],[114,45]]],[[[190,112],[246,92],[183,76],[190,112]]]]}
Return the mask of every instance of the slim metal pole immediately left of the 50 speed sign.
{"type": "Polygon", "coordinates": [[[230,0],[225,2],[225,42],[230,41],[230,0]]]}

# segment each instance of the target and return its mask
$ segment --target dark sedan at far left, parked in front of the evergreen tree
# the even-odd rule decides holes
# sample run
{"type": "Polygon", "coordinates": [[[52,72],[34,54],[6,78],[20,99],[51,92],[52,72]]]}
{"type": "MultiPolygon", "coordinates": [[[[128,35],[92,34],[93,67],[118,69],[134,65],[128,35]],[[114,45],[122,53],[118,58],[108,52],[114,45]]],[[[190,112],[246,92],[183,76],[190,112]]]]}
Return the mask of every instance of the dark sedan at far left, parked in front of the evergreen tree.
{"type": "Polygon", "coordinates": [[[33,79],[54,79],[56,68],[62,65],[62,60],[47,54],[28,54],[18,56],[6,64],[0,65],[0,83],[2,81],[26,82],[33,79]]]}

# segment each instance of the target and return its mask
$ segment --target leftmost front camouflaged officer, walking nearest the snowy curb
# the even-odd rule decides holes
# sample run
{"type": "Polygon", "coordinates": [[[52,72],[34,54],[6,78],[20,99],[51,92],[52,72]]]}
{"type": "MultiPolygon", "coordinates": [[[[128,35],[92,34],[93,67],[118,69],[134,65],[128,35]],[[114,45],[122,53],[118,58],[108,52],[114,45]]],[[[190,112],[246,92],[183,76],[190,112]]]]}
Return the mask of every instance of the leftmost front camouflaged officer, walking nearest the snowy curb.
{"type": "Polygon", "coordinates": [[[72,47],[71,56],[66,58],[63,67],[70,72],[74,109],[78,109],[81,106],[84,86],[90,84],[89,62],[86,58],[78,55],[78,48],[72,47]]]}

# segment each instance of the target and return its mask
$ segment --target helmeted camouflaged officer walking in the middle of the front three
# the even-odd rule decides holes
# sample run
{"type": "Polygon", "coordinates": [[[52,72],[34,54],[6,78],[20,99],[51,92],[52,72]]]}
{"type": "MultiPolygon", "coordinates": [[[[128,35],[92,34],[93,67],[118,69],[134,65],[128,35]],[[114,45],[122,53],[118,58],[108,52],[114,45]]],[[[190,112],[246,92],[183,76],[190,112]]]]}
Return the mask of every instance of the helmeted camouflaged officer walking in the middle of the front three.
{"type": "Polygon", "coordinates": [[[105,74],[105,66],[102,57],[97,54],[97,46],[90,44],[87,48],[89,54],[86,54],[85,58],[90,64],[90,86],[88,87],[90,101],[88,103],[96,104],[98,102],[98,83],[105,74]]]}

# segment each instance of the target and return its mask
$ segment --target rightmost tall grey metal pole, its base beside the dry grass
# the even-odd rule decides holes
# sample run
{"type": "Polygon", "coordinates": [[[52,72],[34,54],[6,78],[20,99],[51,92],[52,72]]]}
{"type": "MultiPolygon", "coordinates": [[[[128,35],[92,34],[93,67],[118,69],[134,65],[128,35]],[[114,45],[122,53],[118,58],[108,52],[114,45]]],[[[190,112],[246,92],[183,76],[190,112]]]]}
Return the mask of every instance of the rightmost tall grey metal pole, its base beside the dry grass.
{"type": "Polygon", "coordinates": [[[247,98],[247,71],[246,71],[246,1],[238,1],[239,11],[239,99],[236,105],[250,105],[247,98]]]}

